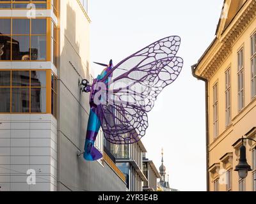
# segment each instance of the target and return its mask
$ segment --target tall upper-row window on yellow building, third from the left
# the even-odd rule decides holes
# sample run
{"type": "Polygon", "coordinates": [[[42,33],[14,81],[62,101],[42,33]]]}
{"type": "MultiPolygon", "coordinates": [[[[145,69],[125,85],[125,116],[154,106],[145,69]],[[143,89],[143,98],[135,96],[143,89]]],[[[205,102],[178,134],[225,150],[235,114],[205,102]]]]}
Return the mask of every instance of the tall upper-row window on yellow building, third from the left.
{"type": "Polygon", "coordinates": [[[244,108],[244,48],[237,52],[237,108],[244,108]]]}

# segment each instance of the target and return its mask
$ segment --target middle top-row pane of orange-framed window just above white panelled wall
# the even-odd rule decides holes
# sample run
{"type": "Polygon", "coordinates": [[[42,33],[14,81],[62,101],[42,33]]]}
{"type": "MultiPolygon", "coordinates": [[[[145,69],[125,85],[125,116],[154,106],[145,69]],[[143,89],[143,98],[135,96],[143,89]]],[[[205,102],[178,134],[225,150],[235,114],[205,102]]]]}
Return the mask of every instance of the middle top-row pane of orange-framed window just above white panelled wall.
{"type": "Polygon", "coordinates": [[[14,87],[28,87],[29,71],[12,71],[12,85],[14,87]]]}

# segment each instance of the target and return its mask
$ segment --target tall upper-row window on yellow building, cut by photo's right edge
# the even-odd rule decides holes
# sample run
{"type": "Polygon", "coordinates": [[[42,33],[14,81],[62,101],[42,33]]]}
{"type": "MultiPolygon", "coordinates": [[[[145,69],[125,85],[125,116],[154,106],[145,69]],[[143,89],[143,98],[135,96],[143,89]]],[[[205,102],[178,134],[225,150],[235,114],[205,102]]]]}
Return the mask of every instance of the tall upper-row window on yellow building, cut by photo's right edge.
{"type": "Polygon", "coordinates": [[[251,97],[256,97],[256,33],[251,36],[251,97]]]}

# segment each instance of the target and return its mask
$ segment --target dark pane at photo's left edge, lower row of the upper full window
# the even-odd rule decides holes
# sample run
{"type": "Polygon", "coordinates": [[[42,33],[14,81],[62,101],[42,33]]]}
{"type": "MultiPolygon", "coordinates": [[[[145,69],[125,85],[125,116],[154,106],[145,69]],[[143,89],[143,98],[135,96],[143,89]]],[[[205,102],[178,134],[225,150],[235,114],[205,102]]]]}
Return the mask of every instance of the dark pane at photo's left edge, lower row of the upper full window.
{"type": "Polygon", "coordinates": [[[11,59],[11,41],[10,36],[0,36],[0,60],[11,59]]]}

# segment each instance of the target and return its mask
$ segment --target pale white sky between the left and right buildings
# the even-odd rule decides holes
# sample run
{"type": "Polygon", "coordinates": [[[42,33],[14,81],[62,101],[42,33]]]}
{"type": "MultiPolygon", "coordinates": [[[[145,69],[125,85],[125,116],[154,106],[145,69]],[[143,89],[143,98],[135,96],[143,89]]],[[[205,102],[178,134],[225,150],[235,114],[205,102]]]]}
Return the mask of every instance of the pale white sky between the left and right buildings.
{"type": "MultiPolygon", "coordinates": [[[[181,38],[178,56],[184,59],[179,78],[159,95],[148,114],[143,138],[157,168],[164,165],[170,186],[180,191],[205,191],[204,82],[191,75],[214,39],[223,0],[91,0],[89,16],[91,64],[114,64],[166,36],[181,38]]],[[[95,73],[100,66],[92,65],[95,73]]],[[[99,70],[98,70],[99,69],[99,70]]]]}

